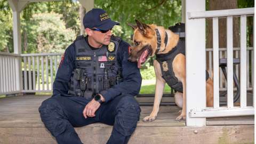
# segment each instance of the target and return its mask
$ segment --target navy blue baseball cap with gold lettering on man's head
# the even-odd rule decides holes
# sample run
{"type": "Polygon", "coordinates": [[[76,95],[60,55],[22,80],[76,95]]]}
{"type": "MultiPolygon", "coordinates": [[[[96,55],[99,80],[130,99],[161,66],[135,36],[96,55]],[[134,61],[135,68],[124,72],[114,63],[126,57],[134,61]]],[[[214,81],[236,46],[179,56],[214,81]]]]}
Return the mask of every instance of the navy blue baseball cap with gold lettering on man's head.
{"type": "Polygon", "coordinates": [[[109,30],[120,23],[112,21],[106,11],[102,9],[92,9],[84,15],[84,28],[98,28],[109,30]]]}

